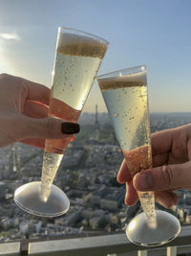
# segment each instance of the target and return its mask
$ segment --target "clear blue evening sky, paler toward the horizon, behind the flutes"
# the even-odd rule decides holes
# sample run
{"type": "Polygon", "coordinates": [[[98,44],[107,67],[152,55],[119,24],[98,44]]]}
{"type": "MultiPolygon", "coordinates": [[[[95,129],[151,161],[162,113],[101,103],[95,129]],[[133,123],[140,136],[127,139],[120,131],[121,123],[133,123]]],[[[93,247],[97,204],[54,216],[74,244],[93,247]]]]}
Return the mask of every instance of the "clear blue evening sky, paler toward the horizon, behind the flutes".
{"type": "MultiPolygon", "coordinates": [[[[98,75],[145,64],[151,112],[191,111],[190,0],[0,0],[0,73],[51,87],[57,28],[110,42],[98,75]]],[[[106,111],[97,82],[84,111],[106,111]]]]}

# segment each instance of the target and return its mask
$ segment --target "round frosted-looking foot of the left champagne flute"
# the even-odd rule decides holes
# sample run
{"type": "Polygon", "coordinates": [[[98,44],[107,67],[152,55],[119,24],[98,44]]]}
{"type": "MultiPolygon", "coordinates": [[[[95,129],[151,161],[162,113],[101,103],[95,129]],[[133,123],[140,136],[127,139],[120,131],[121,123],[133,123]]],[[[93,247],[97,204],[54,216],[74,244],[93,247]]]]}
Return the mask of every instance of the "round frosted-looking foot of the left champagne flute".
{"type": "Polygon", "coordinates": [[[61,189],[53,184],[43,186],[40,181],[19,187],[14,201],[24,211],[42,217],[60,216],[70,207],[70,200],[61,189]]]}

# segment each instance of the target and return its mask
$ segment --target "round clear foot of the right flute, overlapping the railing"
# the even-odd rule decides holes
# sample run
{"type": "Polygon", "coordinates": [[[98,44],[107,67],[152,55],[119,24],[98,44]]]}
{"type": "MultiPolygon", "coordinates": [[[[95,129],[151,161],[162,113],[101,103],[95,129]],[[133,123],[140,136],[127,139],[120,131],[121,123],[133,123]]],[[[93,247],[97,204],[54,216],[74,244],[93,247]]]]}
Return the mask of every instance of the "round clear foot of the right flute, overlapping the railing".
{"type": "Polygon", "coordinates": [[[164,211],[156,211],[157,226],[147,224],[144,213],[136,216],[126,228],[127,238],[134,244],[158,246],[175,239],[180,233],[180,221],[164,211]]]}

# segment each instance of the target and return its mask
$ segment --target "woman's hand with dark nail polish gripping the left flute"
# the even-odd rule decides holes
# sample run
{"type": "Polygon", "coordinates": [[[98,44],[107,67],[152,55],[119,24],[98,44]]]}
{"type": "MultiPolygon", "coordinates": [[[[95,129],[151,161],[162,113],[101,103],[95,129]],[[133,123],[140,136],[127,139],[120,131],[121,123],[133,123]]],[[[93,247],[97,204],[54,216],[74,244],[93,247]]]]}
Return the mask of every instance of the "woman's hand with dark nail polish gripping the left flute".
{"type": "Polygon", "coordinates": [[[0,75],[0,148],[20,141],[43,149],[45,138],[79,131],[78,124],[48,117],[50,93],[42,84],[0,75]]]}

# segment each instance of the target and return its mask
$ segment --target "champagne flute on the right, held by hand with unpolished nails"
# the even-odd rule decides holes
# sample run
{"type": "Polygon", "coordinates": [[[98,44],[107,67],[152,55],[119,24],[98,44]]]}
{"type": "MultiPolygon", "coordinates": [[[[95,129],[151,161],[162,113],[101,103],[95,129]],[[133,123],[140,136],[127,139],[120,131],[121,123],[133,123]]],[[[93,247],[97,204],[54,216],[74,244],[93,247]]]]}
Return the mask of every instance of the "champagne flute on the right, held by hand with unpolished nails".
{"type": "MultiPolygon", "coordinates": [[[[152,168],[146,67],[123,69],[97,78],[117,141],[132,177],[152,168]]],[[[180,221],[155,210],[153,192],[138,193],[143,213],[129,222],[126,235],[135,244],[154,246],[175,239],[180,221]]]]}

